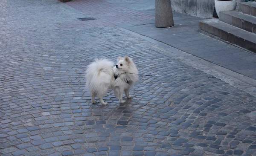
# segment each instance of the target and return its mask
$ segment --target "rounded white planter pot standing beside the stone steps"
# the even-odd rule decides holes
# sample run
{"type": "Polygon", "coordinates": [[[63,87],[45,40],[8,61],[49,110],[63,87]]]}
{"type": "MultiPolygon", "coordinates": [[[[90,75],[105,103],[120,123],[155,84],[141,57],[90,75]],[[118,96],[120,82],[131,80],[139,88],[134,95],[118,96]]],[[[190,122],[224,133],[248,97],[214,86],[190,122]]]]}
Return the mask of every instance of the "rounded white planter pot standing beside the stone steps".
{"type": "Polygon", "coordinates": [[[214,0],[214,3],[215,3],[215,9],[218,16],[219,16],[219,12],[236,9],[236,0],[228,0],[228,1],[214,0]]]}

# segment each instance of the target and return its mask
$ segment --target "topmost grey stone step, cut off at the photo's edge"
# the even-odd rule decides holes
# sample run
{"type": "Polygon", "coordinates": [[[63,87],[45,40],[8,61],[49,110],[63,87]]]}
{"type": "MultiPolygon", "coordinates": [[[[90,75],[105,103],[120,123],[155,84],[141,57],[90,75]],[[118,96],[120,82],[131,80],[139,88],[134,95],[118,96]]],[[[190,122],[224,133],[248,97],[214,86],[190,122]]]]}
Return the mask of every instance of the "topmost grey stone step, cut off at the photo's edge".
{"type": "Polygon", "coordinates": [[[239,11],[244,14],[256,16],[256,2],[242,2],[239,3],[239,11]]]}

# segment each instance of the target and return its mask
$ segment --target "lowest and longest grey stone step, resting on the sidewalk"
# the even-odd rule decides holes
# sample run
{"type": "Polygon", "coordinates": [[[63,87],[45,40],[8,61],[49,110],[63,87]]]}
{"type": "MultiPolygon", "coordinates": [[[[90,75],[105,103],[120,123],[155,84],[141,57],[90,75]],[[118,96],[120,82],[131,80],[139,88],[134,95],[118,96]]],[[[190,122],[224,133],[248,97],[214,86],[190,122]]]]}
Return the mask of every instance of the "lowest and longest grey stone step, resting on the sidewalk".
{"type": "Polygon", "coordinates": [[[256,34],[224,23],[218,19],[200,20],[199,32],[207,35],[210,34],[210,36],[214,35],[217,39],[221,39],[252,52],[256,52],[256,34]]]}

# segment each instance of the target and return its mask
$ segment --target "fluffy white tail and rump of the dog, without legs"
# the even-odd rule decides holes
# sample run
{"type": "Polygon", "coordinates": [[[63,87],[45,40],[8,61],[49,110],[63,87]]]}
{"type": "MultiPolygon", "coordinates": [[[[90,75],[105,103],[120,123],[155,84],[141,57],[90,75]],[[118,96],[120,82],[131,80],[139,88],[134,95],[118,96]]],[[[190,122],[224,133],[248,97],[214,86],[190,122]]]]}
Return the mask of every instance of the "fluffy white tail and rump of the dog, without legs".
{"type": "Polygon", "coordinates": [[[96,60],[87,67],[86,70],[86,86],[93,95],[104,96],[108,88],[112,88],[113,62],[107,59],[96,60]]]}

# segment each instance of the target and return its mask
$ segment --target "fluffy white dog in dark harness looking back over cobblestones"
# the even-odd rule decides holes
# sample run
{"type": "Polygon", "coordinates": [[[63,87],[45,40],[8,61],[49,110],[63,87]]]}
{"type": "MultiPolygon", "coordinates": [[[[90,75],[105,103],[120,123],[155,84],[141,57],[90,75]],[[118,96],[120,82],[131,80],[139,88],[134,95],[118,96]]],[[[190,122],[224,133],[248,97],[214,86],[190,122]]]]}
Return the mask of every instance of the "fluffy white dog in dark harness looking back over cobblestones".
{"type": "Polygon", "coordinates": [[[122,99],[123,92],[127,98],[131,98],[129,90],[138,80],[138,70],[128,56],[125,58],[118,57],[117,62],[118,64],[112,68],[113,63],[111,61],[101,59],[87,67],[86,86],[91,92],[92,103],[96,103],[95,97],[98,97],[101,104],[108,104],[103,101],[108,89],[114,89],[115,95],[121,103],[125,102],[122,99]]]}

